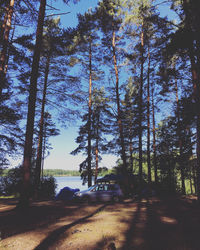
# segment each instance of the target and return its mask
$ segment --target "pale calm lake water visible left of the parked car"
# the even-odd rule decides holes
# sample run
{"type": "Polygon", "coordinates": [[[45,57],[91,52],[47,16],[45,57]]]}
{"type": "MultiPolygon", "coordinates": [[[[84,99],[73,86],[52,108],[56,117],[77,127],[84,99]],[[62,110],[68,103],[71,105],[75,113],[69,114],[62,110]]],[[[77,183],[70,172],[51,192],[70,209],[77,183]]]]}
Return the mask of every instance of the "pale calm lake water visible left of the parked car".
{"type": "Polygon", "coordinates": [[[82,180],[80,176],[62,176],[55,177],[57,183],[56,193],[64,187],[79,188],[80,190],[87,189],[87,184],[82,185],[82,180]]]}

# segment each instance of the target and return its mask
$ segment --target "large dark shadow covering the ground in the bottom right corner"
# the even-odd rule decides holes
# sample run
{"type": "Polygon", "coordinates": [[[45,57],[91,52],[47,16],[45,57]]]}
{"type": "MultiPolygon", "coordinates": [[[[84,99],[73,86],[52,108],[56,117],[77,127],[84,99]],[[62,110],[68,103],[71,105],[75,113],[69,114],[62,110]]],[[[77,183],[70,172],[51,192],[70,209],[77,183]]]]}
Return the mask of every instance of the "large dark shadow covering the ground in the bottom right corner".
{"type": "Polygon", "coordinates": [[[197,204],[179,197],[151,198],[138,202],[122,249],[197,250],[199,232],[197,204]]]}

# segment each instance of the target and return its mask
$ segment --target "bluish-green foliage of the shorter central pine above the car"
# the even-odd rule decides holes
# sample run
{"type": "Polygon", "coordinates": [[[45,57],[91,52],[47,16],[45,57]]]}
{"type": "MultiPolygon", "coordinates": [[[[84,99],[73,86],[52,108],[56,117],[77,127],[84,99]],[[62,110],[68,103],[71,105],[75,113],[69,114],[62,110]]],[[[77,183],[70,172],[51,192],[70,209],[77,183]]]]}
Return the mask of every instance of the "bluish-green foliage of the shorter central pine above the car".
{"type": "MultiPolygon", "coordinates": [[[[92,108],[91,108],[91,163],[92,163],[92,174],[95,175],[96,169],[96,157],[98,162],[101,161],[101,155],[107,152],[107,140],[106,134],[109,131],[110,124],[108,121],[109,105],[108,98],[105,96],[103,88],[93,90],[92,94],[92,108]],[[98,150],[98,156],[96,155],[98,150]]],[[[76,155],[82,153],[87,155],[88,150],[88,114],[82,116],[83,125],[79,128],[79,136],[76,138],[76,142],[79,144],[78,147],[71,152],[76,155]]],[[[84,183],[87,181],[88,176],[88,156],[80,164],[80,173],[84,183]]]]}

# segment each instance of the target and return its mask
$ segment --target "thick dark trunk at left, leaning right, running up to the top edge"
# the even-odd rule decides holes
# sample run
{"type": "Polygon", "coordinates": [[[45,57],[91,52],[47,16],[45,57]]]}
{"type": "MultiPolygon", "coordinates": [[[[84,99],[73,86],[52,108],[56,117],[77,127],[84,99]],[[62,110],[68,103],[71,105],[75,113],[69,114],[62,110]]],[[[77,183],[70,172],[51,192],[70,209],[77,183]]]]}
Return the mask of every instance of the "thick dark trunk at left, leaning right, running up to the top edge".
{"type": "Polygon", "coordinates": [[[42,33],[44,25],[46,0],[40,1],[40,9],[38,16],[36,44],[33,55],[32,71],[30,78],[29,101],[28,101],[28,115],[26,125],[26,137],[24,145],[24,159],[23,159],[23,188],[18,206],[28,207],[30,199],[30,169],[32,159],[32,145],[33,145],[33,130],[35,119],[35,105],[37,96],[37,78],[39,70],[40,52],[42,44],[42,33]]]}

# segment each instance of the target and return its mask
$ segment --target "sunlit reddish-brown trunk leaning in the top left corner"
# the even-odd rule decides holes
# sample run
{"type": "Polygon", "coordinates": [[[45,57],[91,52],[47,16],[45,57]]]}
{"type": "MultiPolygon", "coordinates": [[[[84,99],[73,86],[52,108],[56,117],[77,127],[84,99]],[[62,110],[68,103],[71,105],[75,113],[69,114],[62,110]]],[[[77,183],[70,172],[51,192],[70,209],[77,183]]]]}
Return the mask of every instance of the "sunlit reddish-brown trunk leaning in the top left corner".
{"type": "Polygon", "coordinates": [[[7,62],[7,52],[9,44],[9,34],[11,29],[11,21],[14,9],[14,0],[10,0],[9,6],[7,7],[7,13],[5,14],[4,23],[2,26],[2,50],[0,54],[0,97],[2,96],[2,90],[5,87],[5,67],[7,62]]]}

